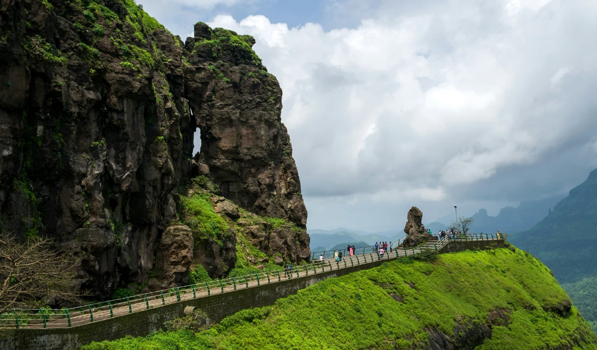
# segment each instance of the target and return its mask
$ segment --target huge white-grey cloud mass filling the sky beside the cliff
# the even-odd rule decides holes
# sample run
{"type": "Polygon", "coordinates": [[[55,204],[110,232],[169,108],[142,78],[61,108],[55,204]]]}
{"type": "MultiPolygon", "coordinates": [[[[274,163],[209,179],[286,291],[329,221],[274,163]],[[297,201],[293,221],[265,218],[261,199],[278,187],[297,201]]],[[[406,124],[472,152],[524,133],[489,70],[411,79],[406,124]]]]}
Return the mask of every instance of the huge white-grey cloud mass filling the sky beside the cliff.
{"type": "Polygon", "coordinates": [[[452,0],[395,13],[383,4],[395,3],[368,9],[355,29],[262,15],[208,23],[256,38],[284,90],[311,202],[445,201],[595,145],[595,1],[452,0]]]}

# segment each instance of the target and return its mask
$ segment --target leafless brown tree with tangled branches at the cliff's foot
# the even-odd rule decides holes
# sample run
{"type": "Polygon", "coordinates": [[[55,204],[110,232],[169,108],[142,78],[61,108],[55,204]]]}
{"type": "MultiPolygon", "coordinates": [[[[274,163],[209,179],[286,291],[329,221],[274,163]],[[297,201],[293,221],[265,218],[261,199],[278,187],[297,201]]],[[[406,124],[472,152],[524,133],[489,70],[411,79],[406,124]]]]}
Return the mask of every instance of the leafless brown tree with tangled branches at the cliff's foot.
{"type": "Polygon", "coordinates": [[[72,288],[78,258],[60,254],[52,243],[0,234],[0,314],[14,307],[39,307],[50,299],[78,301],[85,294],[72,288]]]}

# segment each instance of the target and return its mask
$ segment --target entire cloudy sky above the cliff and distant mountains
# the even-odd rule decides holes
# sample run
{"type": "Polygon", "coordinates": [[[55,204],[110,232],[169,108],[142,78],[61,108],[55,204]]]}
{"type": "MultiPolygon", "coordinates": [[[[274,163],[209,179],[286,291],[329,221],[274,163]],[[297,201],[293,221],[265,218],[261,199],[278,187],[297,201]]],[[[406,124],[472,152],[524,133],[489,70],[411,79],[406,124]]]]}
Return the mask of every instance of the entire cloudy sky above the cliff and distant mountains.
{"type": "Polygon", "coordinates": [[[562,195],[597,167],[594,0],[140,0],[253,35],[309,229],[402,230],[562,195]]]}

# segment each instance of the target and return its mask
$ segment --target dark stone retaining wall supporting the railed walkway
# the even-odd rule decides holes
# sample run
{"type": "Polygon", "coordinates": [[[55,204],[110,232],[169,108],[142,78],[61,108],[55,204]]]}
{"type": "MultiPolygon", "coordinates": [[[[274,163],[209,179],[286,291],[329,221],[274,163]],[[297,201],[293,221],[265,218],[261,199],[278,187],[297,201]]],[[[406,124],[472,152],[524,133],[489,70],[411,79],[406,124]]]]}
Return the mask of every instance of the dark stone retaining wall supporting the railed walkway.
{"type": "MultiPolygon", "coordinates": [[[[496,241],[493,241],[496,242],[496,241]]],[[[441,253],[485,249],[488,241],[449,242],[440,249],[441,253]]],[[[497,241],[503,247],[504,241],[497,241]]],[[[391,259],[391,260],[394,260],[391,259]]],[[[277,299],[285,298],[319,281],[330,277],[344,276],[355,271],[377,267],[384,261],[373,261],[353,267],[341,268],[311,276],[303,276],[281,282],[261,284],[235,292],[203,296],[197,299],[184,300],[174,304],[152,307],[149,310],[137,311],[77,327],[48,329],[0,330],[0,349],[2,350],[70,350],[79,346],[101,340],[113,340],[127,335],[146,336],[162,329],[165,321],[183,316],[184,308],[193,306],[205,311],[211,323],[247,309],[272,305],[277,299]]],[[[263,282],[262,282],[263,283],[263,282]]]]}

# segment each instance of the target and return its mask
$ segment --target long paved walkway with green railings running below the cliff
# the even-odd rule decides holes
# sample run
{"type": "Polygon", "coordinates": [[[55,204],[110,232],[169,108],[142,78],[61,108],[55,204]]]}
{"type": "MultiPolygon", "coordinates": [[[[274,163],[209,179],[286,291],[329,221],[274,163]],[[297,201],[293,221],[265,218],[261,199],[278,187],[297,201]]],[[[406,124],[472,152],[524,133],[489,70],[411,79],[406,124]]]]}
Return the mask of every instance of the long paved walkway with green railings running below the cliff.
{"type": "Polygon", "coordinates": [[[74,308],[63,309],[14,309],[0,315],[0,329],[20,328],[56,328],[75,327],[104,320],[106,318],[118,317],[131,314],[149,308],[161,307],[166,304],[173,304],[188,299],[202,298],[204,296],[234,292],[237,289],[247,289],[264,284],[282,282],[283,280],[296,279],[298,277],[321,274],[327,271],[340,270],[362,264],[370,264],[374,261],[390,260],[399,257],[408,257],[421,254],[425,249],[439,251],[448,242],[470,241],[470,240],[500,240],[501,235],[497,234],[473,234],[458,235],[456,237],[442,237],[439,240],[426,242],[416,247],[405,248],[398,246],[392,251],[380,254],[377,251],[368,251],[364,254],[344,256],[342,260],[336,261],[327,258],[323,261],[312,260],[307,264],[294,266],[292,270],[282,269],[277,271],[260,271],[259,273],[246,276],[229,277],[227,279],[211,280],[210,282],[196,283],[195,285],[173,287],[171,289],[158,290],[156,292],[143,293],[126,298],[110,301],[97,302],[82,305],[74,308]]]}

